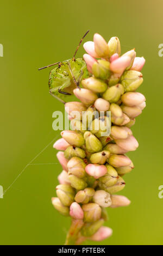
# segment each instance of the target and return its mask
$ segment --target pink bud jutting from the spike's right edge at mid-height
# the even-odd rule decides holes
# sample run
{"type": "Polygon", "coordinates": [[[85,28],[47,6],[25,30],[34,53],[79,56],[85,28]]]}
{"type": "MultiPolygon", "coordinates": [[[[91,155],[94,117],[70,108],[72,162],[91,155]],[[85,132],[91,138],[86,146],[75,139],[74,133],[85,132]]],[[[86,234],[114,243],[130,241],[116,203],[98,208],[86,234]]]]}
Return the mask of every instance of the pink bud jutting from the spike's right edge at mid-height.
{"type": "Polygon", "coordinates": [[[139,147],[139,143],[133,135],[129,136],[127,139],[115,139],[115,142],[120,148],[127,151],[134,151],[139,147]]]}

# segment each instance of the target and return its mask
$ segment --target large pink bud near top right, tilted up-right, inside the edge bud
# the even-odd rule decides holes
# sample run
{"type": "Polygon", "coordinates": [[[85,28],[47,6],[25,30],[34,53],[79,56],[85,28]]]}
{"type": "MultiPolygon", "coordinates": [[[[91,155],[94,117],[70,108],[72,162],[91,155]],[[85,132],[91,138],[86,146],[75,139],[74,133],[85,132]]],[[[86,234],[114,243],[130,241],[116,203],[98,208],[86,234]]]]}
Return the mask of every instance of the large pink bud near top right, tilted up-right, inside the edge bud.
{"type": "Polygon", "coordinates": [[[130,64],[131,58],[129,56],[121,56],[120,58],[114,60],[110,64],[110,70],[116,74],[122,74],[123,71],[130,64]]]}

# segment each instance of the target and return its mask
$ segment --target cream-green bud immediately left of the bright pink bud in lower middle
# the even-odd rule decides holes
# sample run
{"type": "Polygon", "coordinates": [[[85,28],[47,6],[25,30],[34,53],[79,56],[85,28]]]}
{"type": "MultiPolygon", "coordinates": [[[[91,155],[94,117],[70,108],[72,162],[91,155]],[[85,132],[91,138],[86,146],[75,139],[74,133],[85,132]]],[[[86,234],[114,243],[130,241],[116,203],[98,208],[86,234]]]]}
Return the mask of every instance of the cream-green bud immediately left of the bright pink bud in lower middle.
{"type": "Polygon", "coordinates": [[[68,174],[76,175],[78,178],[84,178],[86,175],[86,164],[80,157],[73,156],[67,163],[68,174]]]}

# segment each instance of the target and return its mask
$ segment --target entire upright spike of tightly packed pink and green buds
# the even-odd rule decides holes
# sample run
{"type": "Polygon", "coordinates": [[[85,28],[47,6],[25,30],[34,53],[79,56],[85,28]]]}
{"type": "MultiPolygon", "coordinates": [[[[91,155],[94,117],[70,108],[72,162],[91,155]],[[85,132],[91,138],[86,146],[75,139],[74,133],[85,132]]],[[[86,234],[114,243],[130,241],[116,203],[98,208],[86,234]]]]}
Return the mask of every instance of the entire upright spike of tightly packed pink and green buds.
{"type": "MultiPolygon", "coordinates": [[[[63,170],[52,203],[62,215],[72,217],[76,232],[72,228],[71,236],[76,235],[76,244],[109,237],[112,230],[103,226],[105,208],[130,204],[128,198],[115,193],[126,185],[122,176],[134,168],[126,153],[139,144],[130,127],[146,106],[145,96],[136,92],[143,82],[143,57],[136,57],[134,49],[121,55],[117,37],[107,44],[99,34],[85,42],[84,49],[90,77],[82,80],[82,88],[73,90],[80,102],[65,104],[72,130],[62,131],[62,138],[53,146],[61,150],[57,157],[63,170]],[[108,111],[111,127],[103,136],[108,111]]],[[[71,244],[71,238],[69,234],[66,244],[71,244]]]]}

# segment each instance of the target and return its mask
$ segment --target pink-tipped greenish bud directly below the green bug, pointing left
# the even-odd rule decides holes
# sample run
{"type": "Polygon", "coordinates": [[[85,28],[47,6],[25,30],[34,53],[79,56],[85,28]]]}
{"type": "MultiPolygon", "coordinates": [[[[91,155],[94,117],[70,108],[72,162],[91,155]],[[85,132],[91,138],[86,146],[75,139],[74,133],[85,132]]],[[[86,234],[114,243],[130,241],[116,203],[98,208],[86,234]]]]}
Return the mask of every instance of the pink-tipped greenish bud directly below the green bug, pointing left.
{"type": "Polygon", "coordinates": [[[73,90],[74,95],[82,101],[86,106],[92,105],[98,96],[96,93],[92,92],[89,89],[85,88],[76,88],[73,90]]]}

